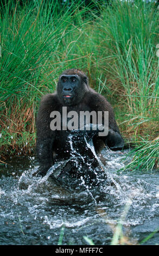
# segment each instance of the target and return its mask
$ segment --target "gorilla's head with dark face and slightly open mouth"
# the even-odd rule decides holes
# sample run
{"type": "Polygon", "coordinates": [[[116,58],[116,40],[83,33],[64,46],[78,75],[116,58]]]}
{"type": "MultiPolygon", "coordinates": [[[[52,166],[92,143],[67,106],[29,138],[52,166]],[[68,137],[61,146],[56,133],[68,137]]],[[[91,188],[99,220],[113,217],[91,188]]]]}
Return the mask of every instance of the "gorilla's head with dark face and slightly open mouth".
{"type": "Polygon", "coordinates": [[[59,77],[57,92],[63,106],[78,105],[88,92],[88,78],[78,69],[65,70],[59,77]]]}

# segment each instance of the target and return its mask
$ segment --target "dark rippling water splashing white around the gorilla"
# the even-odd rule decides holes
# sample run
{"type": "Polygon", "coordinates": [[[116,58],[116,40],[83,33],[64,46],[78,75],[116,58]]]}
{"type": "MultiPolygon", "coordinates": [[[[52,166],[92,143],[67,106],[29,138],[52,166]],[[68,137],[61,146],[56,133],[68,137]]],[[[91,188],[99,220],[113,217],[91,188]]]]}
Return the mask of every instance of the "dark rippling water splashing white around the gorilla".
{"type": "Polygon", "coordinates": [[[117,172],[125,154],[104,149],[100,171],[106,181],[88,186],[80,177],[71,190],[50,178],[53,169],[43,178],[34,176],[35,157],[10,159],[0,169],[0,244],[87,245],[86,236],[94,245],[110,245],[121,227],[120,244],[147,238],[142,244],[158,245],[158,232],[148,236],[159,228],[159,173],[117,172]]]}

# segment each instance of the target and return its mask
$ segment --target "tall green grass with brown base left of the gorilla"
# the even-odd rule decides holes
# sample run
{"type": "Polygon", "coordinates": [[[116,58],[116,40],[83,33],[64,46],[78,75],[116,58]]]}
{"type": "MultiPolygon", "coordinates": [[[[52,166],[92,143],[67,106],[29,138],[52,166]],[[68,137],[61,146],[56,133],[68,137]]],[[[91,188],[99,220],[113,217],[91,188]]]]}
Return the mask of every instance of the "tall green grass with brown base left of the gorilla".
{"type": "Polygon", "coordinates": [[[30,153],[42,94],[55,90],[63,69],[84,67],[91,56],[77,43],[85,9],[66,4],[60,9],[58,1],[6,1],[1,10],[1,155],[30,153]],[[70,54],[75,44],[79,50],[70,54]]]}

